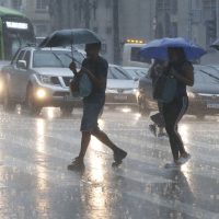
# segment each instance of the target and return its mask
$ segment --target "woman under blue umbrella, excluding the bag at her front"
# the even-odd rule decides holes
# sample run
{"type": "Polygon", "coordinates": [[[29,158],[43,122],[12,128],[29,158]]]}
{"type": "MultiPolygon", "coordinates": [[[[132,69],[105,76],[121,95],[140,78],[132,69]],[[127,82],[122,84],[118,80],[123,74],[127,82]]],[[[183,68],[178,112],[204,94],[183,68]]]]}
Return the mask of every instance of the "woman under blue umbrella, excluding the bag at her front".
{"type": "Polygon", "coordinates": [[[188,107],[186,85],[193,87],[194,84],[194,69],[186,59],[183,48],[171,47],[168,51],[169,64],[164,73],[176,80],[176,89],[173,100],[169,103],[162,103],[165,129],[173,154],[173,162],[168,163],[165,168],[176,168],[187,162],[191,158],[177,131],[177,125],[188,107]]]}

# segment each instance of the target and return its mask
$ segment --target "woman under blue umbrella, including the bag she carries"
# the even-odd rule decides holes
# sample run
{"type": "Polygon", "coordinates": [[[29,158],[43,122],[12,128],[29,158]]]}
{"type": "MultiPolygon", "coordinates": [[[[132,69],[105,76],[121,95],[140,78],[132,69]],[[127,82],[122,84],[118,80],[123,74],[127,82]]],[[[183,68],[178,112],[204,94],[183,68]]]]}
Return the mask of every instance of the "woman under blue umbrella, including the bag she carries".
{"type": "Polygon", "coordinates": [[[191,154],[186,151],[178,132],[178,122],[188,107],[186,85],[194,84],[194,69],[181,47],[169,48],[169,64],[157,81],[154,96],[161,101],[165,130],[169,136],[173,162],[165,168],[177,168],[187,162],[191,154]]]}

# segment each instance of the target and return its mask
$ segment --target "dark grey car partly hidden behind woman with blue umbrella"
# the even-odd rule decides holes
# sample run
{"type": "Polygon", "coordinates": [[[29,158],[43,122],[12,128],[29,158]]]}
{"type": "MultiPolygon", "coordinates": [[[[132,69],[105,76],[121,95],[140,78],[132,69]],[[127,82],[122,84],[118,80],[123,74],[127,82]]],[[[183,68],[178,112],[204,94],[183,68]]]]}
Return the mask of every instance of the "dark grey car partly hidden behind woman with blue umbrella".
{"type": "MultiPolygon", "coordinates": [[[[188,87],[189,107],[187,114],[199,118],[219,114],[219,71],[211,66],[194,65],[195,84],[188,87]]],[[[152,99],[152,83],[149,73],[139,81],[137,97],[139,111],[149,114],[157,111],[152,99]]]]}

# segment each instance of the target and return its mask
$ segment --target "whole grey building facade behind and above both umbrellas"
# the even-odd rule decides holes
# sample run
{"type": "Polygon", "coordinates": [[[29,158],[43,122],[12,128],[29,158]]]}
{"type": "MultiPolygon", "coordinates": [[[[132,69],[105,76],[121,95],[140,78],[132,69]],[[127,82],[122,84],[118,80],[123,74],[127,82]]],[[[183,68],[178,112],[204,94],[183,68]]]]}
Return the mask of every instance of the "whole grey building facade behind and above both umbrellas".
{"type": "Polygon", "coordinates": [[[208,47],[219,36],[219,0],[50,0],[53,30],[96,32],[106,58],[119,62],[127,38],[189,38],[208,47]]]}

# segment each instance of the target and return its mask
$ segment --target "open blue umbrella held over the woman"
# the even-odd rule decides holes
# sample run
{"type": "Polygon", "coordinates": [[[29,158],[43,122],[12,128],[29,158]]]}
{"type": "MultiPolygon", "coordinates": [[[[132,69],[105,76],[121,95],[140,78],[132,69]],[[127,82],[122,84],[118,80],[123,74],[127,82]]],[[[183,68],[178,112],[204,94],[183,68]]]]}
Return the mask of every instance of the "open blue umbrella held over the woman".
{"type": "Polygon", "coordinates": [[[169,47],[183,48],[188,60],[196,60],[207,53],[204,48],[195,45],[194,43],[185,38],[177,37],[151,41],[141,48],[140,55],[145,58],[168,60],[169,47]]]}

